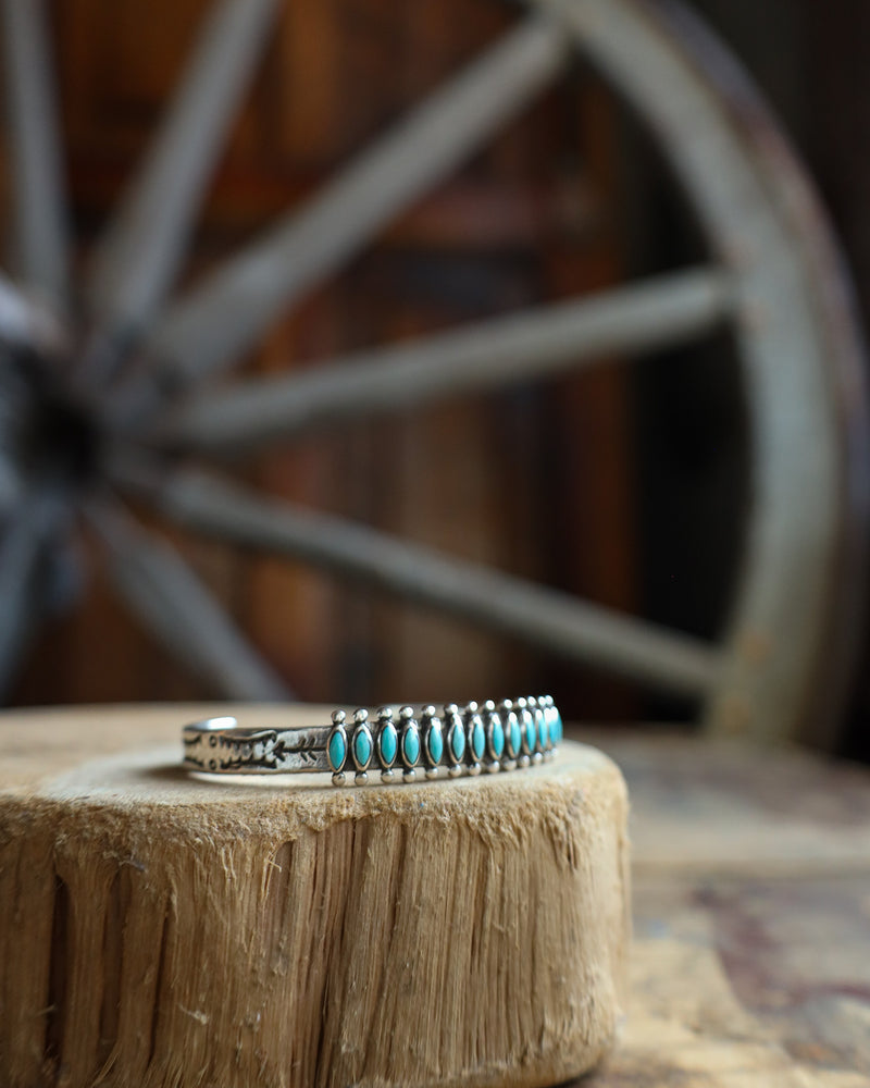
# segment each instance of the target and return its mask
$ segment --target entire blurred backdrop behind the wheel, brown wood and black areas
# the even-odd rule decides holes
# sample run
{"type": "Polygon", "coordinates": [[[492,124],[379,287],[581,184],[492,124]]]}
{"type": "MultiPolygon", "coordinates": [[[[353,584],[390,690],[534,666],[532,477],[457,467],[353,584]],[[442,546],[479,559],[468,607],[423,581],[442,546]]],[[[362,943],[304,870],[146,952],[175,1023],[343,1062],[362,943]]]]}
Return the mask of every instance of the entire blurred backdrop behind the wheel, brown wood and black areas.
{"type": "MultiPolygon", "coordinates": [[[[751,73],[818,186],[870,308],[870,9],[691,4],[751,73]]],[[[207,0],[50,8],[76,247],[99,236],[172,98],[207,0]]],[[[515,20],[495,0],[287,0],[210,189],[185,277],[316,191],[515,20]]],[[[245,367],[605,290],[704,258],[655,138],[582,62],[278,322],[245,367]]],[[[728,333],[567,378],[300,436],[240,470],[276,496],[704,638],[726,615],[748,487],[728,333]],[[703,364],[699,364],[703,360],[703,364]]],[[[291,561],[166,530],[306,700],[551,690],[566,716],[691,719],[662,696],[291,561]]],[[[80,595],[35,635],[13,704],[212,694],[120,603],[83,545],[80,595]]],[[[865,655],[866,657],[866,655],[865,655]]],[[[870,685],[829,740],[870,755],[870,685]]]]}

